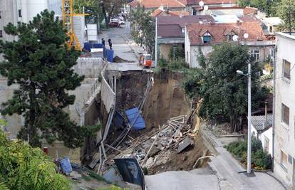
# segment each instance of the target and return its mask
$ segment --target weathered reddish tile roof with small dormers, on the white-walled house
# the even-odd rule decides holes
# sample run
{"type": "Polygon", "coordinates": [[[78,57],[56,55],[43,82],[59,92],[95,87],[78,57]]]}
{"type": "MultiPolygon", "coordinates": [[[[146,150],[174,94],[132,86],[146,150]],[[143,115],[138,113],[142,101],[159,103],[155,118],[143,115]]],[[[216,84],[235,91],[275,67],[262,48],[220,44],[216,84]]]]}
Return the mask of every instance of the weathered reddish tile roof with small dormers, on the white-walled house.
{"type": "Polygon", "coordinates": [[[266,40],[262,26],[258,22],[242,22],[242,23],[191,23],[187,25],[187,32],[190,38],[190,44],[201,45],[202,35],[209,32],[212,36],[212,43],[222,43],[227,41],[227,34],[232,31],[235,35],[245,41],[244,33],[248,33],[249,38],[246,41],[262,41],[266,40]]]}

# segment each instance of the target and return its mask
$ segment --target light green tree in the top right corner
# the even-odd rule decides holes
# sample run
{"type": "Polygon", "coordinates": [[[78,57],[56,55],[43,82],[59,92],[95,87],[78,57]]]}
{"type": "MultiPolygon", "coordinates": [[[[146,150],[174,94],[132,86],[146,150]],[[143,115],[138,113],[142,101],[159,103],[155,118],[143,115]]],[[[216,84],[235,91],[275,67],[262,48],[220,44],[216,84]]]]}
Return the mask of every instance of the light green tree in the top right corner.
{"type": "Polygon", "coordinates": [[[282,0],[281,4],[276,6],[276,15],[284,21],[281,24],[281,30],[295,30],[295,0],[282,0]]]}

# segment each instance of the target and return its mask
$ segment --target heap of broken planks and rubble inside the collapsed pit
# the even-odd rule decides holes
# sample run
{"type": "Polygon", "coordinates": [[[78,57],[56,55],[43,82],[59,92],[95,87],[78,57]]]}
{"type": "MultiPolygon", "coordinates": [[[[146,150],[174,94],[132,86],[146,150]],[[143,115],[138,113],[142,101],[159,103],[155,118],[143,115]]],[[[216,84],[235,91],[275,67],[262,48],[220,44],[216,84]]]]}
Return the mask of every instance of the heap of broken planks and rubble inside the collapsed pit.
{"type": "MultiPolygon", "coordinates": [[[[190,120],[193,114],[192,112],[190,117],[186,117],[186,115],[172,117],[162,127],[159,126],[158,129],[152,130],[148,134],[142,134],[135,139],[130,137],[130,140],[120,144],[116,152],[118,153],[120,150],[120,154],[113,155],[113,158],[135,158],[141,167],[148,170],[154,167],[164,168],[163,165],[179,156],[180,159],[178,158],[177,162],[187,160],[187,155],[181,154],[194,147],[197,134],[191,130],[192,121],[190,120]]],[[[197,159],[196,155],[199,154],[192,153],[192,162],[197,159]]],[[[111,157],[109,156],[109,158],[111,157]]],[[[106,164],[111,166],[113,159],[109,159],[106,164]]]]}

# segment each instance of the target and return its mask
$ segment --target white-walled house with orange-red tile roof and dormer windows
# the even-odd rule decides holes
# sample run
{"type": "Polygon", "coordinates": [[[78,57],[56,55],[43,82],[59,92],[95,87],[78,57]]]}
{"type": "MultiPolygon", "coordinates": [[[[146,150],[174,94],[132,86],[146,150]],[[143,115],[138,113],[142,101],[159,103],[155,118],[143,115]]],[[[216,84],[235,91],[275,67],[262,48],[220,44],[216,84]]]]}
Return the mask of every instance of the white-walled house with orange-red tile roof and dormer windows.
{"type": "Polygon", "coordinates": [[[212,52],[212,46],[233,42],[249,46],[249,53],[257,60],[264,61],[274,48],[274,41],[268,41],[260,20],[251,16],[234,19],[221,18],[214,22],[190,23],[185,26],[185,60],[190,68],[198,68],[199,51],[205,56],[212,52]]]}

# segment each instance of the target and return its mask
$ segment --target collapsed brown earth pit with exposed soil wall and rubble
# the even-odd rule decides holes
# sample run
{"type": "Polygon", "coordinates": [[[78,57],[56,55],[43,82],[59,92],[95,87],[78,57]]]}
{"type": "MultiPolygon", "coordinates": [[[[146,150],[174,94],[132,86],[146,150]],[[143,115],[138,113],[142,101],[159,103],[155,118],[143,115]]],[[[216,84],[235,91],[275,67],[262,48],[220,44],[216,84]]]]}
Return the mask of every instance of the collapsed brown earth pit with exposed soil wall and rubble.
{"type": "MultiPolygon", "coordinates": [[[[113,158],[121,157],[137,158],[145,174],[204,167],[206,159],[196,161],[210,152],[198,134],[197,102],[188,100],[182,88],[184,76],[167,70],[157,74],[129,70],[116,75],[116,111],[125,118],[125,110],[138,107],[143,99],[148,79],[153,76],[154,82],[142,110],[146,128],[131,130],[116,150],[110,149],[105,169],[113,164],[113,158]]],[[[123,127],[113,123],[106,144],[112,144],[123,127]]],[[[93,159],[97,155],[93,152],[93,159]]]]}

